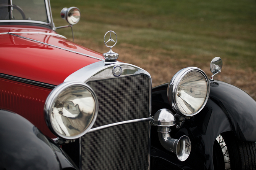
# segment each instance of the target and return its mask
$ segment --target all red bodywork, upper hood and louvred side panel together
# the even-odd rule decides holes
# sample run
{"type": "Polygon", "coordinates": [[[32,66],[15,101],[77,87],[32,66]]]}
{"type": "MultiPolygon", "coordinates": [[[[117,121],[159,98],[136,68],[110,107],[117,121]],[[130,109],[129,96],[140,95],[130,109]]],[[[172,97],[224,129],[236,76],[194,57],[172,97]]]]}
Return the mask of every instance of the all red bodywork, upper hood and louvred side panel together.
{"type": "MultiPolygon", "coordinates": [[[[80,68],[99,61],[81,54],[16,37],[7,34],[7,32],[15,32],[16,35],[104,59],[99,52],[58,37],[55,31],[48,28],[20,25],[1,26],[0,73],[5,75],[57,86],[80,68]],[[39,34],[40,32],[53,33],[56,36],[39,34]]],[[[44,87],[0,78],[0,93],[2,97],[0,108],[20,114],[33,124],[36,124],[45,135],[53,138],[55,136],[43,121],[44,104],[50,91],[51,89],[44,87]],[[16,102],[12,102],[12,100],[16,102]],[[13,103],[17,104],[14,105],[13,103]]]]}

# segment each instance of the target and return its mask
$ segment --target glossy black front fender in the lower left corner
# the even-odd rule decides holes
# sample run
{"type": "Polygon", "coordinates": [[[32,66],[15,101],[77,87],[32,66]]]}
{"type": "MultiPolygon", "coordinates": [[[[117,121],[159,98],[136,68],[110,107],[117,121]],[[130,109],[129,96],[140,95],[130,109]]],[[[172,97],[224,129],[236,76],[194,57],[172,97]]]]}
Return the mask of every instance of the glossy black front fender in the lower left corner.
{"type": "Polygon", "coordinates": [[[78,170],[63,150],[22,116],[0,110],[0,169],[78,170]]]}

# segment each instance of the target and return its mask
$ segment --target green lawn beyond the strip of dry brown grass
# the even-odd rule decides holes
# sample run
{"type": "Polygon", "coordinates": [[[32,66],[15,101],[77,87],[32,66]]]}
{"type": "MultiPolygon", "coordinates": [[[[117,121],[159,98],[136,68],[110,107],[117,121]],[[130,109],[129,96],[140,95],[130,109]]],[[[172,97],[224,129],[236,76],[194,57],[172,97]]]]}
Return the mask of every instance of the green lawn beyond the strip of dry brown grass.
{"type": "MultiPolygon", "coordinates": [[[[94,45],[102,46],[105,32],[114,30],[118,44],[177,51],[165,57],[204,56],[198,62],[219,56],[232,67],[256,71],[255,0],[52,0],[51,6],[56,26],[66,24],[63,7],[78,7],[75,37],[94,45]]],[[[70,29],[57,31],[71,38],[70,29]]]]}

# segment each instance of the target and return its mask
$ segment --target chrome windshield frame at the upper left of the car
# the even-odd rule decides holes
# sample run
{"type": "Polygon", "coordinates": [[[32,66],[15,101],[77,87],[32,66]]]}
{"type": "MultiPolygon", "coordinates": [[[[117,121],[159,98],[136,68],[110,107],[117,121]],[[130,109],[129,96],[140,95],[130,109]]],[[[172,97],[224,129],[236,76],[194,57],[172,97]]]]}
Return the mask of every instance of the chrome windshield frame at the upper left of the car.
{"type": "MultiPolygon", "coordinates": [[[[12,2],[12,0],[10,0],[10,3],[11,2],[12,2]]],[[[36,20],[24,20],[24,19],[5,19],[5,20],[0,20],[0,23],[11,23],[11,22],[18,23],[19,22],[19,23],[43,24],[43,25],[47,25],[53,29],[54,24],[52,21],[52,10],[50,8],[50,0],[44,0],[44,2],[45,2],[46,13],[47,13],[47,19],[49,22],[36,21],[36,20]]],[[[11,5],[12,5],[12,3],[11,3],[11,5]]]]}

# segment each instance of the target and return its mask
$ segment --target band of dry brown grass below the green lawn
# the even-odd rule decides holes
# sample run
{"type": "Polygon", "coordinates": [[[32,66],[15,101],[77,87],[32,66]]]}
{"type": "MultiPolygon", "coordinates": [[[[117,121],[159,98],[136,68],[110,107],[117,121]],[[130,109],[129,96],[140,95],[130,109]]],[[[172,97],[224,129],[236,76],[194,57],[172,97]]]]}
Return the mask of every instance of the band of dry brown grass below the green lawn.
{"type": "MultiPolygon", "coordinates": [[[[107,48],[102,44],[92,43],[90,40],[76,40],[77,43],[82,44],[86,47],[94,49],[100,52],[106,52],[107,48]]],[[[208,77],[210,77],[211,71],[209,65],[212,58],[207,58],[205,60],[198,60],[202,56],[187,56],[179,57],[180,53],[178,51],[167,51],[164,49],[149,49],[140,46],[133,46],[131,44],[120,43],[114,49],[118,52],[120,60],[124,62],[137,65],[144,70],[147,70],[152,77],[152,86],[157,86],[159,84],[167,83],[170,81],[172,76],[182,68],[185,67],[199,67],[201,68],[208,77]]],[[[256,99],[256,72],[252,68],[246,68],[245,70],[236,70],[231,65],[225,64],[227,61],[223,59],[222,72],[214,76],[214,79],[224,81],[233,84],[245,92],[251,95],[251,97],[256,99]]]]}

